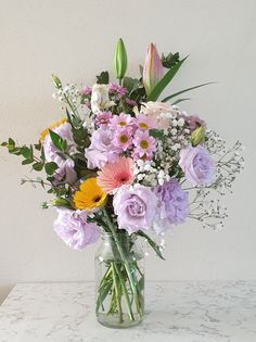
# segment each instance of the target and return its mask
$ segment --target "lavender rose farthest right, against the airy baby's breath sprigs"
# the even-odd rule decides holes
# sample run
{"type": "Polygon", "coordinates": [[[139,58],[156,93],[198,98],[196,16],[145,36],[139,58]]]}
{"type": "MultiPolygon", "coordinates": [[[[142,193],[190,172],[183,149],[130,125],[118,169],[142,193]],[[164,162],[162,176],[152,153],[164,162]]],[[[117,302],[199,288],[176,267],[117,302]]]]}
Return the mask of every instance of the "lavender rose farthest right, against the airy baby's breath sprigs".
{"type": "Polygon", "coordinates": [[[189,145],[181,150],[179,165],[191,185],[208,186],[213,182],[216,165],[205,148],[189,145]]]}

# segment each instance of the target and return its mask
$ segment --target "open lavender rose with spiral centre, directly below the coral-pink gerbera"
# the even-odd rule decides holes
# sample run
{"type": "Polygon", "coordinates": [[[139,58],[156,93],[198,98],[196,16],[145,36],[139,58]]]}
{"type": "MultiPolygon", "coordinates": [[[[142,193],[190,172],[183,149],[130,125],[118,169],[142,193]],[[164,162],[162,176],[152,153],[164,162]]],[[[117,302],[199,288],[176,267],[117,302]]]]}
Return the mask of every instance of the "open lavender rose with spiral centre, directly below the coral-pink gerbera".
{"type": "Polygon", "coordinates": [[[149,230],[155,218],[156,205],[157,198],[150,188],[123,186],[113,200],[118,228],[126,229],[129,235],[140,229],[149,230]]]}

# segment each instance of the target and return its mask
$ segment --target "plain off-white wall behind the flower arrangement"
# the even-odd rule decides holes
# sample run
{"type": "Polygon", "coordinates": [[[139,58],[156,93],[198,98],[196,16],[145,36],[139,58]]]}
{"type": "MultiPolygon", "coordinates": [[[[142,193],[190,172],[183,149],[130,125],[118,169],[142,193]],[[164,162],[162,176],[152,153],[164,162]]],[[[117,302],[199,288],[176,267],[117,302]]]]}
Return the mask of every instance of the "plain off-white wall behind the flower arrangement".
{"type": "MultiPolygon", "coordinates": [[[[61,116],[51,73],[90,85],[111,68],[118,37],[131,74],[153,41],[159,51],[190,54],[172,90],[219,81],[183,106],[229,143],[239,138],[246,145],[246,169],[226,200],[230,217],[218,233],[190,221],[177,227],[167,239],[167,262],[153,253],[148,258],[149,279],[256,279],[255,13],[254,0],[0,1],[0,140],[36,140],[61,116]]],[[[3,149],[0,163],[1,296],[17,281],[93,279],[95,246],[68,250],[52,231],[54,211],[39,207],[42,190],[20,186],[29,169],[3,149]]]]}

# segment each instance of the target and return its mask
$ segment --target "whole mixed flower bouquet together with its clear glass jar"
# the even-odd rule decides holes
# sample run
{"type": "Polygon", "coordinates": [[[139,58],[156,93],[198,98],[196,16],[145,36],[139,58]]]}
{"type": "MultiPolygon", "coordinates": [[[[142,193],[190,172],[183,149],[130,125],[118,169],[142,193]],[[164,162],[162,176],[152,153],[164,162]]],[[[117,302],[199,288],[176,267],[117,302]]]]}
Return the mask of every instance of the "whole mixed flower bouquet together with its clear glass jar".
{"type": "Polygon", "coordinates": [[[53,75],[53,96],[64,117],[35,144],[17,145],[12,138],[2,142],[23,157],[23,165],[46,174],[22,183],[40,185],[53,195],[42,207],[56,208],[54,231],[69,248],[84,250],[102,236],[95,312],[108,327],[129,327],[143,318],[140,238],[164,258],[159,237],[187,218],[221,227],[227,213],[218,195],[230,190],[243,168],[240,142],[227,149],[202,118],[177,105],[187,100],[182,93],[206,84],[158,100],[184,61],[179,53],[161,58],[151,43],[141,75],[128,77],[119,39],[117,81],[102,72],[92,88],[63,86],[53,75]]]}

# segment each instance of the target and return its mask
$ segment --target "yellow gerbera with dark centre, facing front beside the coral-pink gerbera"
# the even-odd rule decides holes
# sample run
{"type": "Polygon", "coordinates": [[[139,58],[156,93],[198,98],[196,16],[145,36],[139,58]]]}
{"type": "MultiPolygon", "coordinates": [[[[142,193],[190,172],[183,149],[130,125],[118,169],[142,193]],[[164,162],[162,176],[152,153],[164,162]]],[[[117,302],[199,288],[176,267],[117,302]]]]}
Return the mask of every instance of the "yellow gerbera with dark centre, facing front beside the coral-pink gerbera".
{"type": "Polygon", "coordinates": [[[73,200],[76,208],[92,211],[104,205],[106,192],[98,186],[95,178],[88,178],[75,192],[73,200]]]}

